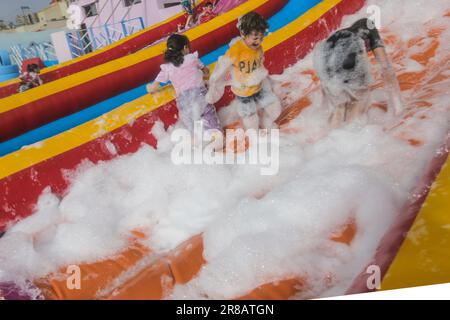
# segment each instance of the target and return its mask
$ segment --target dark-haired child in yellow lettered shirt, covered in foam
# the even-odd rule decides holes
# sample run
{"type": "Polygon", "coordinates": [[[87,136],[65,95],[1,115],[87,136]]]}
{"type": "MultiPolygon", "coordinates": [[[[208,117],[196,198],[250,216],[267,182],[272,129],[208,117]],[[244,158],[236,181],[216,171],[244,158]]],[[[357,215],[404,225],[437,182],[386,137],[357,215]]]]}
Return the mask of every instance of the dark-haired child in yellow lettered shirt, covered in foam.
{"type": "Polygon", "coordinates": [[[274,121],[281,113],[281,104],[272,92],[261,47],[268,23],[256,12],[250,12],[239,19],[238,28],[241,37],[219,59],[210,78],[206,99],[212,104],[222,97],[226,78],[231,72],[231,91],[236,96],[237,112],[244,128],[275,128],[274,121]],[[260,110],[263,114],[261,124],[260,110]]]}

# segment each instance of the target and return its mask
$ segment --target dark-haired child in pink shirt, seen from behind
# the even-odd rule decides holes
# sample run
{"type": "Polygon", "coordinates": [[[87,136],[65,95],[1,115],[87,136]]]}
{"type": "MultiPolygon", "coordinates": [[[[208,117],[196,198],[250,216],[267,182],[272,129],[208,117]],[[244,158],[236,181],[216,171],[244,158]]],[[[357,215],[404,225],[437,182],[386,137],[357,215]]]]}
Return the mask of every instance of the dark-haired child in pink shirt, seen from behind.
{"type": "Polygon", "coordinates": [[[198,52],[190,53],[189,39],[173,34],[167,40],[165,64],[147,91],[153,93],[161,83],[171,82],[177,95],[178,115],[184,126],[193,132],[194,123],[201,120],[204,130],[220,130],[214,105],[205,100],[207,93],[204,77],[209,70],[198,58],[198,52]]]}

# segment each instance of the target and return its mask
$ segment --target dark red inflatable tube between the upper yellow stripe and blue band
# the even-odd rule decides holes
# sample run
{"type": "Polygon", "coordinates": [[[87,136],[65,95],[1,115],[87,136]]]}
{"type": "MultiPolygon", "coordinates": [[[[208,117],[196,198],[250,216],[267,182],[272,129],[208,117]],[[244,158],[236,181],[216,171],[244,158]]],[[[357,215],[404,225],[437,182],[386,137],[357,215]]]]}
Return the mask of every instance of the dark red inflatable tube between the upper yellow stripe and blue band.
{"type": "MultiPolygon", "coordinates": [[[[271,0],[255,11],[269,18],[287,2],[288,0],[271,0]]],[[[236,23],[237,20],[233,20],[222,28],[193,40],[192,49],[204,55],[221,47],[238,35],[236,23]]],[[[0,114],[0,142],[144,85],[156,77],[162,63],[161,54],[69,90],[3,112],[0,114]]]]}

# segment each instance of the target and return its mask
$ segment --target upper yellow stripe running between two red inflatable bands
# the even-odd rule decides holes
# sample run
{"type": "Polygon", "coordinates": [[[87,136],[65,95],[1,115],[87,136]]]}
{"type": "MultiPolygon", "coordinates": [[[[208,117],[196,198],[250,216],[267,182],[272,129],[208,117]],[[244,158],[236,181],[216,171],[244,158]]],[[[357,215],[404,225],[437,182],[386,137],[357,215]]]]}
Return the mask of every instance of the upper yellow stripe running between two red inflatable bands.
{"type": "MultiPolygon", "coordinates": [[[[243,12],[250,12],[257,7],[261,6],[261,4],[268,2],[269,0],[250,0],[241,6],[229,11],[228,13],[222,15],[219,19],[217,19],[214,24],[204,24],[199,26],[198,28],[191,29],[186,32],[186,35],[191,40],[195,40],[204,34],[207,34],[217,28],[217,23],[227,24],[233,20],[236,20],[238,17],[242,15],[243,12]]],[[[68,77],[44,84],[41,87],[35,88],[33,90],[26,91],[21,93],[20,95],[12,95],[0,100],[0,113],[7,112],[9,110],[18,108],[24,104],[31,103],[33,101],[42,99],[44,97],[50,96],[52,94],[69,90],[73,87],[81,85],[83,83],[95,80],[96,78],[108,75],[110,73],[126,69],[130,66],[138,64],[144,60],[148,60],[150,58],[156,57],[160,55],[166,48],[165,43],[160,43],[155,46],[152,46],[148,49],[141,50],[137,53],[134,53],[129,56],[125,56],[107,63],[104,63],[100,66],[96,66],[94,68],[81,71],[70,75],[68,77]]],[[[69,97],[68,97],[69,98],[69,97]]]]}

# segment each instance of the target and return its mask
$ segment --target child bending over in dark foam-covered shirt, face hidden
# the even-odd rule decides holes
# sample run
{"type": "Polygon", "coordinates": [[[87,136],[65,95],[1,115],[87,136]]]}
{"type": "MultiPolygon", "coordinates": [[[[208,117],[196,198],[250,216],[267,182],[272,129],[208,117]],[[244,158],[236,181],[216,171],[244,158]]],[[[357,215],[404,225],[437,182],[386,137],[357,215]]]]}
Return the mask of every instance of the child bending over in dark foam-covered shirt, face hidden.
{"type": "Polygon", "coordinates": [[[400,86],[375,23],[360,19],[349,28],[336,31],[315,49],[314,68],[330,109],[332,128],[368,112],[371,82],[368,51],[373,52],[383,76],[389,111],[395,115],[403,111],[400,86]]]}

